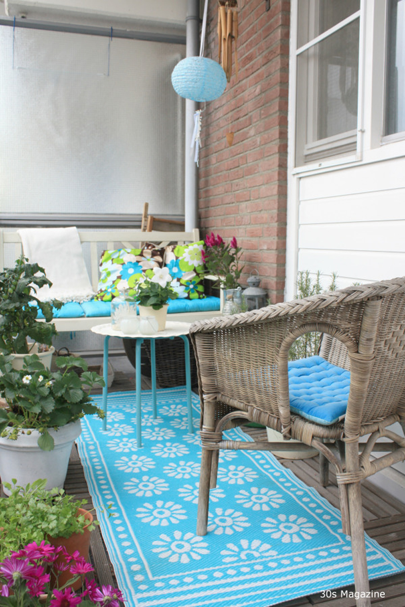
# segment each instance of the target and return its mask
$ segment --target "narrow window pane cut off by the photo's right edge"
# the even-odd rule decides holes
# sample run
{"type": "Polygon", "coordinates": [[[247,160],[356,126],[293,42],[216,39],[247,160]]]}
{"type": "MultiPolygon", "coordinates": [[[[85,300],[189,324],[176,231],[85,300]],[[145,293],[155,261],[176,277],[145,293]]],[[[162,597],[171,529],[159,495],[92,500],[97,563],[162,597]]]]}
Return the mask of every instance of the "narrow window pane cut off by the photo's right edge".
{"type": "Polygon", "coordinates": [[[385,135],[405,131],[405,0],[389,0],[385,135]]]}

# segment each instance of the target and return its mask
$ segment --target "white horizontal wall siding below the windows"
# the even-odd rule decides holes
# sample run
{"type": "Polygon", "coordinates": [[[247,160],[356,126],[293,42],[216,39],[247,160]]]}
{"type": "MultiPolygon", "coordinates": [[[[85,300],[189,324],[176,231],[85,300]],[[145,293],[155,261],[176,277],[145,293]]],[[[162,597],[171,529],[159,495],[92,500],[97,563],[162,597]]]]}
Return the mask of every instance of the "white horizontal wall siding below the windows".
{"type": "Polygon", "coordinates": [[[339,287],[405,274],[405,161],[299,178],[298,270],[339,287]]]}

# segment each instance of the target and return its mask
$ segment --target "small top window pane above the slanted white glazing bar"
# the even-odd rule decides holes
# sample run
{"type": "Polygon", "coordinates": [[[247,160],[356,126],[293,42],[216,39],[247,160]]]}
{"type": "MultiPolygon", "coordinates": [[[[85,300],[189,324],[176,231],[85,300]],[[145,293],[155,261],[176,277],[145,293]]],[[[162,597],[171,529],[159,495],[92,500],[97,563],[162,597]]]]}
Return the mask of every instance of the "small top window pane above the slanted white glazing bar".
{"type": "Polygon", "coordinates": [[[299,0],[298,48],[353,15],[360,0],[299,0]]]}

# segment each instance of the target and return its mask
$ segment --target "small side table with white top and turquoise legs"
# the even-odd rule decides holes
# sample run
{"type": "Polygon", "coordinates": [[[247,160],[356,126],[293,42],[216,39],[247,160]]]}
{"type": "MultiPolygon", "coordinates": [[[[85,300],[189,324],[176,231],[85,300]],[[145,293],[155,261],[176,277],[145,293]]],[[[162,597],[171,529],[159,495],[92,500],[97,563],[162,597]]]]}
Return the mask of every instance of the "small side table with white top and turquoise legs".
{"type": "Polygon", "coordinates": [[[155,361],[155,339],[172,339],[173,337],[181,337],[184,342],[184,356],[186,369],[186,396],[187,396],[187,419],[188,432],[193,433],[192,426],[192,409],[191,409],[191,373],[190,373],[190,346],[188,342],[188,332],[190,323],[188,322],[166,322],[164,331],[156,331],[152,334],[133,333],[126,334],[123,331],[115,330],[111,324],[97,325],[92,327],[93,333],[104,335],[104,353],[103,353],[103,430],[107,429],[107,373],[108,373],[108,344],[110,337],[121,337],[135,339],[135,379],[136,379],[136,419],[137,419],[137,447],[142,446],[141,435],[141,345],[145,339],[151,342],[151,381],[152,381],[152,414],[154,419],[157,418],[156,404],[156,361],[155,361]]]}

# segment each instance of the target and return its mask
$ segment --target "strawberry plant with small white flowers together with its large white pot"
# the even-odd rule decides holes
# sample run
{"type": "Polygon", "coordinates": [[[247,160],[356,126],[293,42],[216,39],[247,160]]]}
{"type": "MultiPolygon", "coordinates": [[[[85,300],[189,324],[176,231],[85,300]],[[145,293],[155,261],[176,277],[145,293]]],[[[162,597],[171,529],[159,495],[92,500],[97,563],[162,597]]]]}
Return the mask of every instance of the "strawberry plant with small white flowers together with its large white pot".
{"type": "MultiPolygon", "coordinates": [[[[24,358],[21,369],[12,356],[0,353],[0,476],[26,485],[47,478],[47,489],[62,487],[73,441],[80,435],[80,418],[103,411],[90,397],[104,380],[87,371],[76,356],[58,356],[58,370],[46,368],[36,354],[24,358]],[[73,367],[80,367],[79,376],[73,367]]],[[[5,491],[7,493],[7,490],[5,491]]]]}

